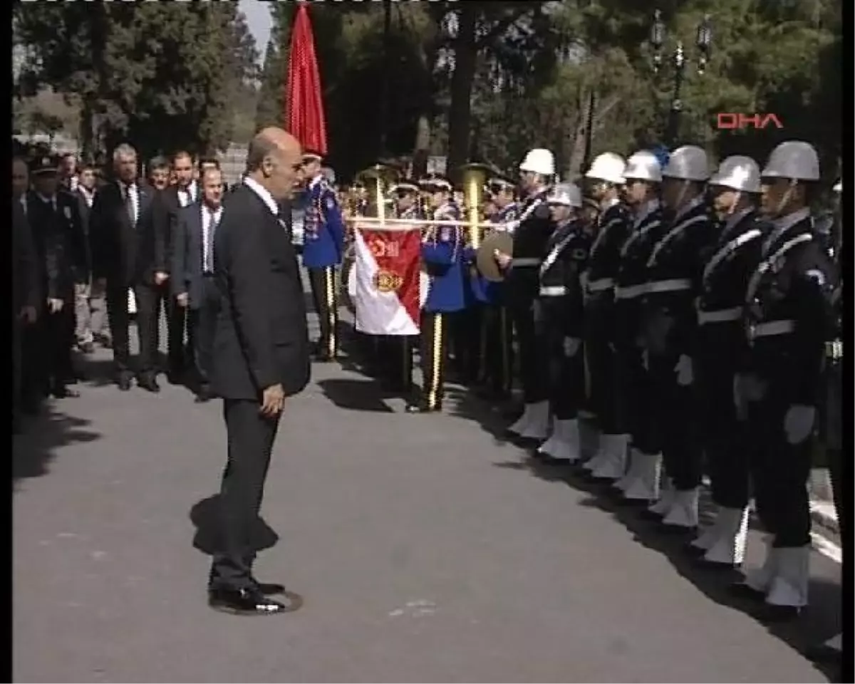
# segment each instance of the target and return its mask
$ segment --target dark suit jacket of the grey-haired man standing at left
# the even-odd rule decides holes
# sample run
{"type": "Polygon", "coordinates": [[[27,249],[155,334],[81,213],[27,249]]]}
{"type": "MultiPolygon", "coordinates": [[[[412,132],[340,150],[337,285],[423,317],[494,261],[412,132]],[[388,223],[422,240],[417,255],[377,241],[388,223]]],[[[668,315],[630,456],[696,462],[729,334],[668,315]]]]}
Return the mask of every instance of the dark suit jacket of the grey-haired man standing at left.
{"type": "Polygon", "coordinates": [[[117,181],[98,189],[89,218],[92,275],[115,286],[153,282],[158,270],[166,271],[165,236],[152,221],[157,191],[138,181],[139,211],[133,226],[117,181]]]}

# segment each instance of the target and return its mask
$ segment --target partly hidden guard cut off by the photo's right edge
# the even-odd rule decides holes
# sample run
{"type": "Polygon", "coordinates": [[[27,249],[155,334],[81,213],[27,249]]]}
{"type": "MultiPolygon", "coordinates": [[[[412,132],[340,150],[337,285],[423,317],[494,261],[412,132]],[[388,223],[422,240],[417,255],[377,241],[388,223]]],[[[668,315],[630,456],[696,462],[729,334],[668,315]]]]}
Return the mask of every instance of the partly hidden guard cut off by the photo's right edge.
{"type": "MultiPolygon", "coordinates": [[[[843,181],[834,185],[834,192],[843,192],[843,181]]],[[[838,200],[839,202],[840,200],[838,200]]],[[[843,277],[842,248],[843,230],[840,224],[840,205],[838,204],[834,227],[831,229],[831,252],[834,266],[840,274],[840,281],[831,298],[834,315],[834,335],[825,345],[826,407],[825,407],[825,447],[828,452],[828,467],[831,471],[831,484],[834,488],[834,509],[840,527],[840,540],[846,545],[848,533],[843,521],[843,277]]],[[[808,649],[807,657],[814,662],[837,661],[843,654],[843,634],[838,632],[825,643],[808,649]]]]}

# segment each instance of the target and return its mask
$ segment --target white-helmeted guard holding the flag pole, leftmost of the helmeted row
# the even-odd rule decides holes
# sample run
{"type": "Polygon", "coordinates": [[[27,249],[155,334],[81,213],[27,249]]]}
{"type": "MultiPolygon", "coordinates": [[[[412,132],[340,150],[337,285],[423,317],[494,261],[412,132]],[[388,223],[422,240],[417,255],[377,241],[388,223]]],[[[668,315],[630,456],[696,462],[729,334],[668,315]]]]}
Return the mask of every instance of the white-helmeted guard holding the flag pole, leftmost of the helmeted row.
{"type": "Polygon", "coordinates": [[[540,291],[540,263],[555,224],[546,196],[555,175],[550,150],[528,152],[520,164],[525,193],[514,230],[513,258],[497,254],[499,266],[510,266],[507,276],[508,307],[516,329],[522,376],[522,416],[508,433],[512,437],[543,441],[549,432],[549,380],[542,331],[534,326],[534,307],[540,291]]]}

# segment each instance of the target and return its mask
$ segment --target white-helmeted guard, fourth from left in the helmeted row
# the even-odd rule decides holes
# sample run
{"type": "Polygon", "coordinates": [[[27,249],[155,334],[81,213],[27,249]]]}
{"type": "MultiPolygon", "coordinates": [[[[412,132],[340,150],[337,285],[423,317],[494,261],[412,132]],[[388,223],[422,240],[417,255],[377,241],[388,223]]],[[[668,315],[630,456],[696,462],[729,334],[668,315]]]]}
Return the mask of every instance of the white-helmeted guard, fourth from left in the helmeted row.
{"type": "MultiPolygon", "coordinates": [[[[623,243],[615,276],[615,351],[618,421],[626,422],[620,433],[630,434],[629,466],[615,486],[628,501],[658,498],[662,454],[653,423],[651,378],[641,338],[641,301],[647,292],[647,261],[664,234],[659,203],[662,166],[647,150],[627,160],[623,177],[624,198],[632,210],[629,237],[623,243]]],[[[623,423],[622,423],[623,424],[623,423]]]]}

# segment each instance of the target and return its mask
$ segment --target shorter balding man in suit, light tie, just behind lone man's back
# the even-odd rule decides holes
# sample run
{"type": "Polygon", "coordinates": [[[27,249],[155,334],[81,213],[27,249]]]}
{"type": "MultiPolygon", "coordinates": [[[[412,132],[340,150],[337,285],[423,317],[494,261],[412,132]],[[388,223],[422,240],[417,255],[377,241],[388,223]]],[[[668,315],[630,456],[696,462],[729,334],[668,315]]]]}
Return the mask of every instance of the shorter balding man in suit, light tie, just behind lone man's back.
{"type": "Polygon", "coordinates": [[[210,368],[219,292],[214,282],[214,234],[222,216],[222,174],[203,172],[201,202],[180,209],[172,233],[169,281],[176,303],[187,310],[187,332],[196,365],[198,402],[211,398],[210,368]]]}

